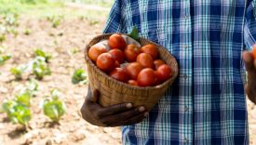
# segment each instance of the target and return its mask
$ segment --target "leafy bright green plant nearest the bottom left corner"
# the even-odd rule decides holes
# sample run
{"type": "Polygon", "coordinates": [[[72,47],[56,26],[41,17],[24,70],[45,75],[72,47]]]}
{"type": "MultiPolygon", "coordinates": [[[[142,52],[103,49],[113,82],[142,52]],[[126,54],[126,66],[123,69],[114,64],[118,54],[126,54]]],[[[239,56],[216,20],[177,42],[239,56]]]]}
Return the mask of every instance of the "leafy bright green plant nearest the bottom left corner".
{"type": "Polygon", "coordinates": [[[14,124],[27,125],[32,118],[29,108],[15,100],[4,100],[2,108],[14,124]]]}

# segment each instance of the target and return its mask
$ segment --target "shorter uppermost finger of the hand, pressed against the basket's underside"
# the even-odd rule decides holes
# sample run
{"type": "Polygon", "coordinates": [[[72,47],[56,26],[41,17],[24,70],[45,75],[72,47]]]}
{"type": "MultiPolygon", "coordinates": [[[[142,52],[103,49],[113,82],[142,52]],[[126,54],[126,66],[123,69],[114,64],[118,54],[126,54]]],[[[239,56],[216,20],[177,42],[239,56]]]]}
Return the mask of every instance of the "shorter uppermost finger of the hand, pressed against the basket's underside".
{"type": "Polygon", "coordinates": [[[99,111],[99,117],[113,115],[117,112],[126,112],[132,108],[131,103],[116,104],[109,107],[105,107],[99,111]]]}

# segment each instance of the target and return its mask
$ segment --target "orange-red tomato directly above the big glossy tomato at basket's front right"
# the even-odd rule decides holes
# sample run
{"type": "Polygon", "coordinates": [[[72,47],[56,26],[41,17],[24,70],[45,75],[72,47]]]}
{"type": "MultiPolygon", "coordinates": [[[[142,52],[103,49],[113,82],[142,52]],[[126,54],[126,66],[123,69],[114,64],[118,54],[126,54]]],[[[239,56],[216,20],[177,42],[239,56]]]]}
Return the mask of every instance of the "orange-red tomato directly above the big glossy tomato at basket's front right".
{"type": "Polygon", "coordinates": [[[144,68],[154,69],[154,61],[152,57],[147,53],[141,53],[137,57],[137,62],[139,62],[144,68]]]}

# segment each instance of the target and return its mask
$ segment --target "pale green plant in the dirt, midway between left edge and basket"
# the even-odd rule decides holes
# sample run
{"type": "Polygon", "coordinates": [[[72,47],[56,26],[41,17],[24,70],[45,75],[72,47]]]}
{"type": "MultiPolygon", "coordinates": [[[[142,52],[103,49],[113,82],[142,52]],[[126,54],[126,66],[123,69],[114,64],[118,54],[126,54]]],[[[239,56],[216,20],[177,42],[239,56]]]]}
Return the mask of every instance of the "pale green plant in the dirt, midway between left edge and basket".
{"type": "Polygon", "coordinates": [[[33,63],[33,73],[36,79],[42,80],[45,75],[50,75],[51,71],[47,66],[45,58],[36,57],[33,63]]]}

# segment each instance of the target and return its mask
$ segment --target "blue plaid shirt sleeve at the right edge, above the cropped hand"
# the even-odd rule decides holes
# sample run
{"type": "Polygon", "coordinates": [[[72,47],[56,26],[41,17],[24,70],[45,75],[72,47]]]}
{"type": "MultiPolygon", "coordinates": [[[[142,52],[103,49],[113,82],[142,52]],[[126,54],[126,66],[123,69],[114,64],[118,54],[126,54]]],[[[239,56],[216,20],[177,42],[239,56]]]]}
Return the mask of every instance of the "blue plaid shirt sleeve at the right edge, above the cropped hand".
{"type": "Polygon", "coordinates": [[[256,0],[248,0],[245,13],[244,43],[251,50],[256,43],[256,0]]]}

